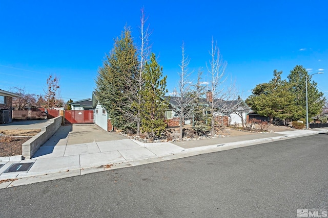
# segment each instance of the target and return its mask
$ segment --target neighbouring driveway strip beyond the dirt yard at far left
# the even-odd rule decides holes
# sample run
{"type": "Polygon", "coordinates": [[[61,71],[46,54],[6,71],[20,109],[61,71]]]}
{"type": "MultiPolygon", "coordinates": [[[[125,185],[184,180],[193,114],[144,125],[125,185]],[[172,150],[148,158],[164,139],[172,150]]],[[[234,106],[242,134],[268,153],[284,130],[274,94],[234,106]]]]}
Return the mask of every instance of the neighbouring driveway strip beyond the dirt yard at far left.
{"type": "Polygon", "coordinates": [[[21,120],[14,121],[9,124],[0,124],[0,129],[2,130],[31,130],[31,129],[41,129],[46,125],[48,119],[39,119],[39,120],[21,120]]]}

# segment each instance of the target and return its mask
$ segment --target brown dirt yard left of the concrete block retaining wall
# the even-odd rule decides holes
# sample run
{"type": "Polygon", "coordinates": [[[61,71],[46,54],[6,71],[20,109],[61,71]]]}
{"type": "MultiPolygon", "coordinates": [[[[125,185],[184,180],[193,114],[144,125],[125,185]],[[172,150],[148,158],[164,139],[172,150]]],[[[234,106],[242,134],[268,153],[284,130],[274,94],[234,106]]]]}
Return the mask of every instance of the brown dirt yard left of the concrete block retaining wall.
{"type": "Polygon", "coordinates": [[[22,144],[40,131],[40,129],[0,130],[0,157],[22,155],[22,144]]]}

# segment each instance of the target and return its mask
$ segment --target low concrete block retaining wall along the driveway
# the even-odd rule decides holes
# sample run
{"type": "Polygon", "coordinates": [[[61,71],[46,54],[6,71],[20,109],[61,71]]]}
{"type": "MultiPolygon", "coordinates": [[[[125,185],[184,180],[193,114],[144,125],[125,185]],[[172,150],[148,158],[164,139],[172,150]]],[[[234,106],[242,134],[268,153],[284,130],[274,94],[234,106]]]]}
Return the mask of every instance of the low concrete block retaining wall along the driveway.
{"type": "Polygon", "coordinates": [[[25,159],[31,159],[40,146],[42,146],[59,129],[62,119],[62,116],[49,119],[46,126],[41,128],[41,132],[23,144],[22,156],[25,159]]]}

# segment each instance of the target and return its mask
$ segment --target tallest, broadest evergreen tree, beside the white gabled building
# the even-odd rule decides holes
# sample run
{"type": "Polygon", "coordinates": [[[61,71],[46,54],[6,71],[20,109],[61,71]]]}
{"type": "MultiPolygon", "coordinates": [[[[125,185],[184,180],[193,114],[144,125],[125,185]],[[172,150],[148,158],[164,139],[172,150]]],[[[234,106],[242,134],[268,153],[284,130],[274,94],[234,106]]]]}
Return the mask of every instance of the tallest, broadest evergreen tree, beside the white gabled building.
{"type": "Polygon", "coordinates": [[[135,120],[131,104],[135,90],[133,87],[138,70],[136,48],[129,28],[114,40],[110,55],[106,56],[104,66],[98,70],[96,80],[97,98],[108,112],[112,124],[121,130],[133,130],[135,120]]]}

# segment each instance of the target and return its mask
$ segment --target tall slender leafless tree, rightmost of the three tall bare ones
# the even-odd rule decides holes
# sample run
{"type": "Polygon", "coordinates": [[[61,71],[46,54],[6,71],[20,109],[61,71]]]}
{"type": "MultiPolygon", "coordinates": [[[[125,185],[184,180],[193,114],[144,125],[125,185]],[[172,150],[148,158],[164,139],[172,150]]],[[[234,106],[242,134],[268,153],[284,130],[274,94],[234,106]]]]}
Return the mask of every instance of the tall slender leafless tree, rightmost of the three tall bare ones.
{"type": "MultiPolygon", "coordinates": [[[[218,117],[223,117],[225,114],[231,112],[234,107],[233,101],[237,98],[237,91],[233,83],[226,84],[227,77],[225,75],[227,62],[223,61],[217,42],[212,38],[212,48],[209,52],[211,59],[207,64],[207,69],[210,75],[209,91],[207,94],[207,101],[210,105],[211,117],[211,136],[215,134],[215,123],[218,122],[218,117]]],[[[221,119],[221,124],[223,120],[221,119]]]]}

